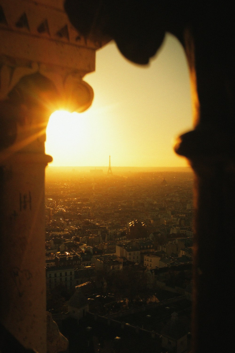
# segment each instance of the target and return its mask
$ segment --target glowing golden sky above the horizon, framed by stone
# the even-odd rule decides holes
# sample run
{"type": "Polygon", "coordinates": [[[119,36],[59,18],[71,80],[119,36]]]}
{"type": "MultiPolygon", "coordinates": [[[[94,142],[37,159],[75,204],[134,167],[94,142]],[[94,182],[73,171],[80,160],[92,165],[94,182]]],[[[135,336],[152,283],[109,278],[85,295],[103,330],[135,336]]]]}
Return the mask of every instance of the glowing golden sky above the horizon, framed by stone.
{"type": "Polygon", "coordinates": [[[54,113],[47,128],[51,166],[179,167],[175,137],[192,129],[189,74],[171,35],[147,67],[123,58],[111,42],[97,51],[84,80],[94,90],[84,113],[54,113]]]}

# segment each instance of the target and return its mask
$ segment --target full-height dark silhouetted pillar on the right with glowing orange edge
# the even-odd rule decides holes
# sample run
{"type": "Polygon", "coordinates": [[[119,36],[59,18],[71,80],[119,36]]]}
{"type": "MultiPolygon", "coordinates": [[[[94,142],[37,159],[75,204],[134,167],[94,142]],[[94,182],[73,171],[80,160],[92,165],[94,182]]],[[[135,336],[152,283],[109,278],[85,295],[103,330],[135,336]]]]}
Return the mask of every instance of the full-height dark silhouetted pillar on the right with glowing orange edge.
{"type": "MultiPolygon", "coordinates": [[[[186,36],[195,129],[176,152],[190,161],[194,183],[193,352],[232,351],[234,332],[235,70],[226,22],[206,26],[210,40],[186,36]],[[213,35],[211,36],[211,33],[213,35]],[[219,48],[219,50],[218,50],[219,48]]],[[[228,15],[229,16],[229,15],[228,15]]]]}

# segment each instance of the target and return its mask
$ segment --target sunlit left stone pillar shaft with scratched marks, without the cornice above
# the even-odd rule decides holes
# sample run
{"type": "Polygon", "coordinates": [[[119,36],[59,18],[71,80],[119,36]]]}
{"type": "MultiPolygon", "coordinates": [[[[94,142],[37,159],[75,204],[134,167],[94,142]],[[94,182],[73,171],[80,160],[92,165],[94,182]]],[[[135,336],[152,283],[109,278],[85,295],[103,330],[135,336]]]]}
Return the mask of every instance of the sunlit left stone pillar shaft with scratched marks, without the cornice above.
{"type": "Polygon", "coordinates": [[[45,128],[54,84],[24,77],[0,103],[1,323],[27,348],[46,352],[44,170],[45,128]],[[8,145],[8,146],[7,146],[8,145]]]}

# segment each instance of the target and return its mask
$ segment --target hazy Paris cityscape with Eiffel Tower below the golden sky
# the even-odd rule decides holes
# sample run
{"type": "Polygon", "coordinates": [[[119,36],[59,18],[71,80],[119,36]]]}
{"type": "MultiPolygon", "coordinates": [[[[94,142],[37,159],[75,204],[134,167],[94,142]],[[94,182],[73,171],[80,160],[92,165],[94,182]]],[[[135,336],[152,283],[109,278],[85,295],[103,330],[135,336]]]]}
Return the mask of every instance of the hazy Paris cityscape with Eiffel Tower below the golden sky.
{"type": "Polygon", "coordinates": [[[191,351],[192,187],[189,168],[110,158],[46,170],[47,311],[69,352],[191,351]]]}

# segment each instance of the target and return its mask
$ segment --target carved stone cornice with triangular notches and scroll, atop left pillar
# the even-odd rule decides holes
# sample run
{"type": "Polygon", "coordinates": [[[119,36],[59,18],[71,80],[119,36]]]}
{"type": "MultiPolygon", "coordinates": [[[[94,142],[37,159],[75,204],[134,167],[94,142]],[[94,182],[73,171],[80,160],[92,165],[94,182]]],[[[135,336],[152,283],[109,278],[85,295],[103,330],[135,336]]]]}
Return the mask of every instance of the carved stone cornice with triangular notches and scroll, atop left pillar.
{"type": "Polygon", "coordinates": [[[101,45],[74,29],[63,0],[0,0],[0,100],[22,77],[40,73],[55,84],[61,108],[84,111],[93,90],[82,78],[94,71],[101,45]]]}

